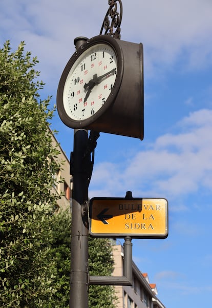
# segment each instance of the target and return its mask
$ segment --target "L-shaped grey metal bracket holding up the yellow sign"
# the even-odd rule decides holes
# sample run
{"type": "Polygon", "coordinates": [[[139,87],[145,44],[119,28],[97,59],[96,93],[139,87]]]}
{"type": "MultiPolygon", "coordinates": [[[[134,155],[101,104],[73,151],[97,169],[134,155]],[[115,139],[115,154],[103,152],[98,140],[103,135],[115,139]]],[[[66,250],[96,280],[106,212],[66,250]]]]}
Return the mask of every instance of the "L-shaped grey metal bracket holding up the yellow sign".
{"type": "Polygon", "coordinates": [[[124,238],[123,276],[90,276],[89,284],[100,285],[130,285],[133,280],[132,237],[124,238]]]}

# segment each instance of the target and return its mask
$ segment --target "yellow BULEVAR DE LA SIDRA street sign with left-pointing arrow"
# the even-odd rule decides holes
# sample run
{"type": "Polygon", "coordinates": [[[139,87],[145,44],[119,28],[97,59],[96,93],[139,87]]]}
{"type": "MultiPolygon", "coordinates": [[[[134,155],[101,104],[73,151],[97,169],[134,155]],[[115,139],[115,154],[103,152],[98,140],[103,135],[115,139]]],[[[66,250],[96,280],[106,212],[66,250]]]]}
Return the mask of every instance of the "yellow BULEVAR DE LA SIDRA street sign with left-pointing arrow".
{"type": "Polygon", "coordinates": [[[168,236],[168,202],[164,198],[92,198],[89,216],[89,233],[94,237],[168,236]]]}

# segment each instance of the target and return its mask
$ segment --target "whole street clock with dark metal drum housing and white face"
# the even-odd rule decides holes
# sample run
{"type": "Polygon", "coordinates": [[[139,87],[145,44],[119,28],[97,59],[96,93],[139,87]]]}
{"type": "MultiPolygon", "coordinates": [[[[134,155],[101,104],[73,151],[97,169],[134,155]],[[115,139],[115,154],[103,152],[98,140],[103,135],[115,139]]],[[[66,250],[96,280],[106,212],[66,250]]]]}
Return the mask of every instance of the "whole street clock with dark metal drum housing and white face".
{"type": "Polygon", "coordinates": [[[143,45],[98,35],[62,72],[57,110],[74,129],[143,139],[143,45]]]}

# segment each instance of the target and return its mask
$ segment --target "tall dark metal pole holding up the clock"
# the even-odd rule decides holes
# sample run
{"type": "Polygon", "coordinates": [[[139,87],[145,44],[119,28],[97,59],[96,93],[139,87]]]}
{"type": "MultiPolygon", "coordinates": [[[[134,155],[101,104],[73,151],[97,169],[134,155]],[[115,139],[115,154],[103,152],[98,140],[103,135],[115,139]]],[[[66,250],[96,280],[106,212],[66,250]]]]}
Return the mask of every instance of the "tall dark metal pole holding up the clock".
{"type": "MultiPolygon", "coordinates": [[[[78,48],[87,38],[76,38],[78,48]]],[[[83,204],[88,201],[88,168],[90,157],[85,157],[88,131],[74,130],[74,150],[71,155],[73,176],[70,308],[88,308],[88,212],[83,204]]]]}

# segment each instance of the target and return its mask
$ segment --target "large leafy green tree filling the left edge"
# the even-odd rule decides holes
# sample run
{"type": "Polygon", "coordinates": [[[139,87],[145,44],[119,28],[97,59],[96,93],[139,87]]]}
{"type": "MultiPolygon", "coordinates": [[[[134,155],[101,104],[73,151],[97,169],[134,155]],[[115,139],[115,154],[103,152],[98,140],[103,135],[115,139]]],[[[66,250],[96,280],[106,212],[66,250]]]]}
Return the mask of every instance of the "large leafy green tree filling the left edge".
{"type": "Polygon", "coordinates": [[[50,193],[56,171],[48,120],[50,98],[41,100],[38,63],[0,49],[0,306],[43,307],[54,293],[49,262],[49,224],[56,197],[50,193]]]}

